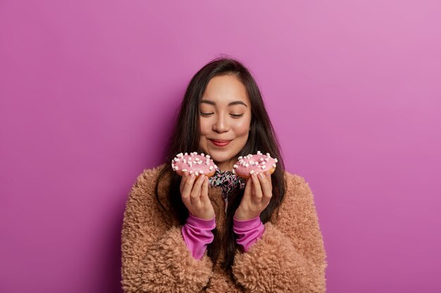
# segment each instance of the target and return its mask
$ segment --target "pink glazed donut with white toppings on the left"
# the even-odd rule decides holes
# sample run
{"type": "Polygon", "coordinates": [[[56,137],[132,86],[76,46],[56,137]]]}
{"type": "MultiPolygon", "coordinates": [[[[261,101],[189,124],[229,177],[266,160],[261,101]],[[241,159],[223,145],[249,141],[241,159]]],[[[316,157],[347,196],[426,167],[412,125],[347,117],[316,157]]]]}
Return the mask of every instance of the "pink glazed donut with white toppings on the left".
{"type": "Polygon", "coordinates": [[[185,154],[179,153],[171,161],[171,167],[180,176],[183,176],[187,171],[187,174],[194,174],[196,177],[199,177],[200,174],[211,177],[218,169],[209,155],[203,153],[198,155],[197,152],[190,152],[190,155],[187,152],[185,154]]]}

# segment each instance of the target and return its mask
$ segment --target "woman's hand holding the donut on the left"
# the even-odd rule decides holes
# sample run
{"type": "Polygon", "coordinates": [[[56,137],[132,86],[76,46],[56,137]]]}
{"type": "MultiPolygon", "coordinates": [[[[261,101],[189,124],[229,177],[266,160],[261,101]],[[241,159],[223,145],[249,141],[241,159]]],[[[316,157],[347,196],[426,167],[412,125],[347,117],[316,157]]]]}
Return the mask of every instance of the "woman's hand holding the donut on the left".
{"type": "Polygon", "coordinates": [[[180,181],[180,194],[182,202],[190,214],[204,220],[214,218],[214,209],[209,199],[209,178],[203,174],[195,181],[194,174],[187,174],[180,181]]]}

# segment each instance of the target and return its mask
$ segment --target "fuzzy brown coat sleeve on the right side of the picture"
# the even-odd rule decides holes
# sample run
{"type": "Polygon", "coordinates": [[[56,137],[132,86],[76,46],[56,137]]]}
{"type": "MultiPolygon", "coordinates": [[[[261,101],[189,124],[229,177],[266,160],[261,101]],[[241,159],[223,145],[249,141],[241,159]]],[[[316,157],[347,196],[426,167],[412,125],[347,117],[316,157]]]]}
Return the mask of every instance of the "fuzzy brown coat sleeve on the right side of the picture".
{"type": "Polygon", "coordinates": [[[232,271],[247,292],[325,292],[325,249],[304,178],[285,174],[287,193],[278,221],[265,224],[262,238],[235,256],[232,271]]]}

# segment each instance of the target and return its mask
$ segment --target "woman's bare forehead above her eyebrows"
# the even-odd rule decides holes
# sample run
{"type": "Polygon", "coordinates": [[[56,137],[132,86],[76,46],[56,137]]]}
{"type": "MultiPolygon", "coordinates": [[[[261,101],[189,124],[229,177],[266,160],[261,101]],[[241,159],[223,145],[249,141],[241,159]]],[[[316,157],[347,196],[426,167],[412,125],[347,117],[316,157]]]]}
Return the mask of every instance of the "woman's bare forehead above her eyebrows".
{"type": "Polygon", "coordinates": [[[228,104],[237,100],[248,103],[247,89],[234,75],[213,77],[207,84],[202,98],[212,100],[216,104],[228,104]]]}

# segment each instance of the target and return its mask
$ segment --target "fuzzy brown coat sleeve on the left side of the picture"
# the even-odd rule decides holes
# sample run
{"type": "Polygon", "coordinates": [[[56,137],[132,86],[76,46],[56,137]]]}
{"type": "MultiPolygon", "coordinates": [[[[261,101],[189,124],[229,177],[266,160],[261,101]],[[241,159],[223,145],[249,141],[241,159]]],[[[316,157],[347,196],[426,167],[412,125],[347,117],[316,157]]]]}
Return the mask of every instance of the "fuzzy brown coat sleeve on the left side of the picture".
{"type": "Polygon", "coordinates": [[[212,262],[206,255],[194,259],[180,227],[163,221],[154,196],[157,175],[158,169],[139,175],[126,204],[121,237],[124,292],[201,292],[213,274],[212,262]]]}

